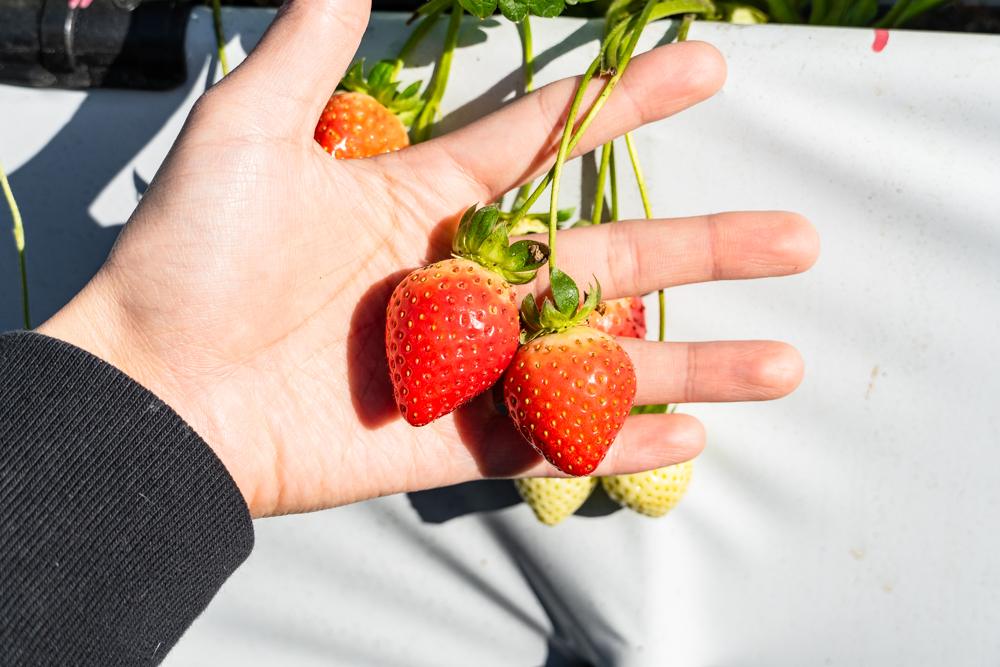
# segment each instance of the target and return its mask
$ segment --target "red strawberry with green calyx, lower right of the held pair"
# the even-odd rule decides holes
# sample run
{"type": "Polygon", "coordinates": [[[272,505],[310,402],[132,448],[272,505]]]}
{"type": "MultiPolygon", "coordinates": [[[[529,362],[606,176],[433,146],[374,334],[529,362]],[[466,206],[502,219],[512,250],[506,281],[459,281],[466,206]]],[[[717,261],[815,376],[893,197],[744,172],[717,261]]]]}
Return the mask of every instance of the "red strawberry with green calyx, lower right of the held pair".
{"type": "Polygon", "coordinates": [[[549,463],[589,475],[625,424],[635,370],[614,337],[579,326],[600,301],[600,285],[581,307],[569,276],[552,269],[550,279],[556,306],[546,300],[539,312],[530,295],[522,305],[529,336],[538,337],[514,355],[504,402],[518,431],[549,463]]]}

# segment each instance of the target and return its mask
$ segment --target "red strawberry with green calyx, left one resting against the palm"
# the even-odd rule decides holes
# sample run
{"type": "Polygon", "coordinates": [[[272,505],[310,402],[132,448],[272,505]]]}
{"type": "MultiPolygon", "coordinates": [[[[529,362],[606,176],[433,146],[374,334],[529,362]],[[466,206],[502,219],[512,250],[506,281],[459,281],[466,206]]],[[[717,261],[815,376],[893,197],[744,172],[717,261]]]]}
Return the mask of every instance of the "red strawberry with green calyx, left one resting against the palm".
{"type": "Polygon", "coordinates": [[[385,349],[396,405],[424,426],[490,388],[517,350],[512,284],[534,279],[548,247],[508,247],[496,206],[462,217],[452,243],[456,259],[417,269],[393,291],[385,349]]]}

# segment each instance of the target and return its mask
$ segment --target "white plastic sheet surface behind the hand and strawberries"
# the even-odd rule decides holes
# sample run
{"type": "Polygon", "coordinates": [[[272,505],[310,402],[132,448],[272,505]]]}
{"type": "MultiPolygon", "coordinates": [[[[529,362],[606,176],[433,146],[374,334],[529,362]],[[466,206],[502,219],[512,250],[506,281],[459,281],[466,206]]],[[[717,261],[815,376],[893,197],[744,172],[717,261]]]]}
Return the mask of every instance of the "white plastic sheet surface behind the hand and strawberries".
{"type": "MultiPolygon", "coordinates": [[[[268,17],[226,14],[231,58],[268,17]]],[[[647,46],[665,29],[652,26],[647,46]]],[[[133,174],[149,180],[203,90],[208,14],[190,30],[180,91],[0,87],[36,317],[99,265],[114,231],[102,225],[127,217],[133,174]]],[[[539,83],[596,52],[594,24],[534,32],[539,83]],[[556,46],[567,36],[569,53],[556,46]]],[[[385,57],[404,36],[397,18],[377,18],[362,53],[385,57]]],[[[165,664],[1000,662],[1000,38],[894,31],[881,53],[869,30],[696,23],[691,38],[723,52],[729,79],[637,133],[654,210],[797,211],[823,255],[794,278],[670,290],[668,335],[786,340],[806,359],[801,388],[683,406],[709,445],[661,520],[594,505],[604,516],[550,529],[523,505],[466,513],[512,502],[493,482],[259,521],[249,562],[165,664]],[[454,518],[424,522],[415,507],[454,518]]],[[[460,47],[445,129],[521,85],[510,25],[469,22],[460,47]]],[[[577,166],[564,201],[580,181],[577,166]]],[[[623,213],[639,215],[634,188],[622,190],[623,213]]],[[[0,267],[6,328],[12,257],[0,267]]]]}

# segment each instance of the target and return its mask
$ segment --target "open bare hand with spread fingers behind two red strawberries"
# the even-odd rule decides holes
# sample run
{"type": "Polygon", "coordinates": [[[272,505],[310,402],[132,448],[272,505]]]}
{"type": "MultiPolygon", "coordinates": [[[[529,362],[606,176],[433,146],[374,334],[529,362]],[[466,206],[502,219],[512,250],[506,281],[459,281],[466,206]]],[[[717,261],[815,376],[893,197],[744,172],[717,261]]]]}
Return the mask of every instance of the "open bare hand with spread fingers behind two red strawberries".
{"type": "MultiPolygon", "coordinates": [[[[407,425],[383,341],[393,287],[448,256],[461,213],[548,169],[577,82],[399,153],[336,161],[313,128],[367,19],[350,0],[286,3],[249,58],[199,100],[108,262],[40,328],[173,407],[227,466],[254,516],[560,474],[489,392],[429,426],[407,425]]],[[[696,104],[724,78],[721,56],[705,44],[636,58],[578,154],[696,104]]],[[[813,228],[786,213],[622,222],[559,237],[560,267],[583,281],[596,274],[608,299],[793,274],[817,253],[813,228]]],[[[541,278],[522,293],[545,288],[541,278]]],[[[777,398],[802,376],[798,353],[781,343],[621,344],[636,365],[637,404],[777,398]]],[[[630,417],[597,474],[685,461],[704,440],[690,416],[630,417]]]]}

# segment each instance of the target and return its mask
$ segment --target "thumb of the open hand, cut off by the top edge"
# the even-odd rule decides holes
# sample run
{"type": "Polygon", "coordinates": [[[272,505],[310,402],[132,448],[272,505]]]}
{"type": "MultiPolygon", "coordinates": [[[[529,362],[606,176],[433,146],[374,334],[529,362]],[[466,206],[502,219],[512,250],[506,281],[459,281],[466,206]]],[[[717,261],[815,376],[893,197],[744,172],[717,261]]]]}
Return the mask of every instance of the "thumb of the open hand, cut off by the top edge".
{"type": "Polygon", "coordinates": [[[311,141],[312,126],[358,50],[370,8],[370,0],[289,0],[215,95],[266,114],[289,137],[311,141]]]}

